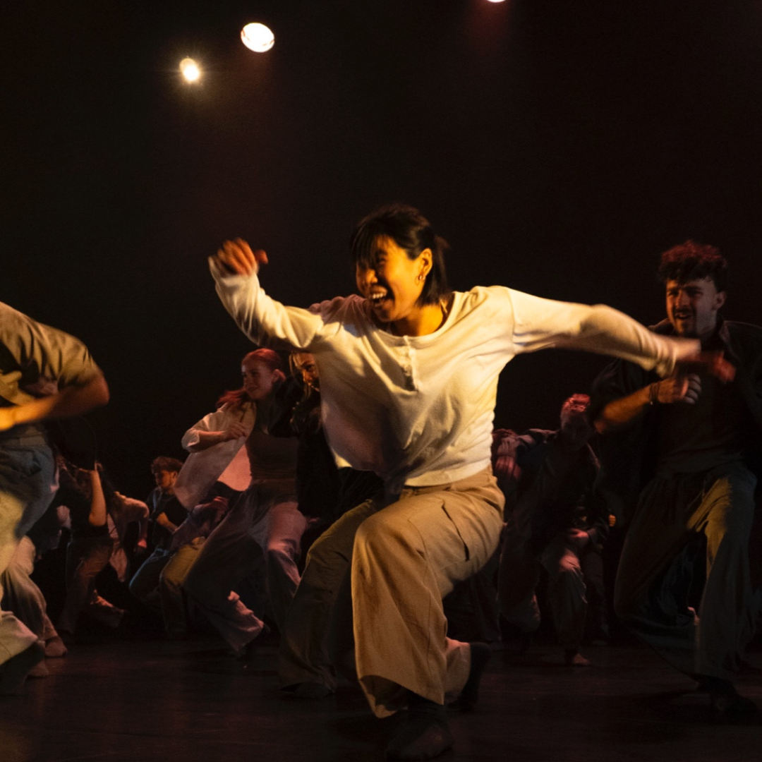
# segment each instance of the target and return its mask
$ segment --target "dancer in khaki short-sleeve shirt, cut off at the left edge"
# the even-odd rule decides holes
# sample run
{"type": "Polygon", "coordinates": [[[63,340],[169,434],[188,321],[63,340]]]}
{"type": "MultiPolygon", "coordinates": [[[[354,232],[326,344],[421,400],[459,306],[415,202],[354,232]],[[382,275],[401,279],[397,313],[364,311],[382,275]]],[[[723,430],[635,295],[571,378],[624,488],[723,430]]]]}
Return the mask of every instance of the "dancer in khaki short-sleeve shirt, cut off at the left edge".
{"type": "MultiPolygon", "coordinates": [[[[106,381],[81,341],[0,303],[0,572],[56,493],[40,424],[106,402],[106,381]]],[[[0,611],[0,694],[18,693],[43,657],[34,632],[0,611]]]]}

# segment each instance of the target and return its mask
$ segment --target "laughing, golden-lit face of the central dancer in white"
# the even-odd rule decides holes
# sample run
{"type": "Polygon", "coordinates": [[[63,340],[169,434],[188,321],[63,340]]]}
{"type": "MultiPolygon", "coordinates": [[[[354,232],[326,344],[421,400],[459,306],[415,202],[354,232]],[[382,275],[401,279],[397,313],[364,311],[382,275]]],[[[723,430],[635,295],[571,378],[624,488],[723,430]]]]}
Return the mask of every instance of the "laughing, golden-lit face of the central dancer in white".
{"type": "Polygon", "coordinates": [[[380,322],[409,320],[421,309],[418,298],[430,269],[429,249],[410,259],[394,239],[379,235],[370,263],[357,264],[357,290],[368,299],[380,322]]]}

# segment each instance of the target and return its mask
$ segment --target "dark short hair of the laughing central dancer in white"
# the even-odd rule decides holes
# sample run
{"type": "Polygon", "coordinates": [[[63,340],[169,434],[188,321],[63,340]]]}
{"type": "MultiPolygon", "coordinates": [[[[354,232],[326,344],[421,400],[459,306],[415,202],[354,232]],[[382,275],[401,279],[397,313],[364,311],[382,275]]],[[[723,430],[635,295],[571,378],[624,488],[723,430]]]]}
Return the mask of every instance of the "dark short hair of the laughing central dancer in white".
{"type": "Polygon", "coordinates": [[[375,243],[379,235],[386,235],[409,259],[418,259],[421,251],[431,249],[431,270],[426,276],[418,304],[439,304],[450,296],[444,253],[450,246],[434,232],[431,223],[415,207],[404,203],[391,203],[371,212],[355,226],[350,239],[350,256],[353,264],[366,267],[373,264],[375,243]]]}

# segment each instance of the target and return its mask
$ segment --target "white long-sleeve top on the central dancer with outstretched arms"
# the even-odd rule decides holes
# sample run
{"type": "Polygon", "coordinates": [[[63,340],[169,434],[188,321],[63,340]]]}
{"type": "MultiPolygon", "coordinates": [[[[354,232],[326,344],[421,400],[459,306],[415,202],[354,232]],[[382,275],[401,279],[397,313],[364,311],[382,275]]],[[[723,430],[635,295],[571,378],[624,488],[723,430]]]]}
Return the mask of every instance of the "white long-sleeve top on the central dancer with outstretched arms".
{"type": "Polygon", "coordinates": [[[582,349],[666,376],[699,351],[697,341],[655,335],[607,306],[501,286],[454,293],[432,334],[395,336],[373,322],[360,296],[287,307],[256,274],[226,275],[210,264],[220,299],[251,341],[315,356],[331,448],[375,471],[391,492],[466,479],[489,465],[498,376],[517,354],[582,349]]]}

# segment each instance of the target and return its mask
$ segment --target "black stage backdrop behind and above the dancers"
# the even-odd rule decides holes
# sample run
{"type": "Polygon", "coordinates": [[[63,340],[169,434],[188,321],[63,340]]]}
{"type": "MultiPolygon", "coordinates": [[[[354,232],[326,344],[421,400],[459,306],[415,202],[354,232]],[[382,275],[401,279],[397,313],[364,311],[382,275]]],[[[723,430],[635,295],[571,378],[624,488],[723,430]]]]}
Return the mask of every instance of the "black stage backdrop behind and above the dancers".
{"type": "MultiPolygon", "coordinates": [[[[726,314],[762,323],[760,82],[757,0],[3,0],[0,299],[88,344],[101,459],[137,497],[239,385],[251,345],[206,263],[235,235],[307,306],[353,290],[353,224],[402,200],[450,241],[453,287],[646,323],[658,254],[690,237],[732,261],[726,314]]],[[[517,358],[497,424],[554,427],[602,364],[517,358]]]]}

